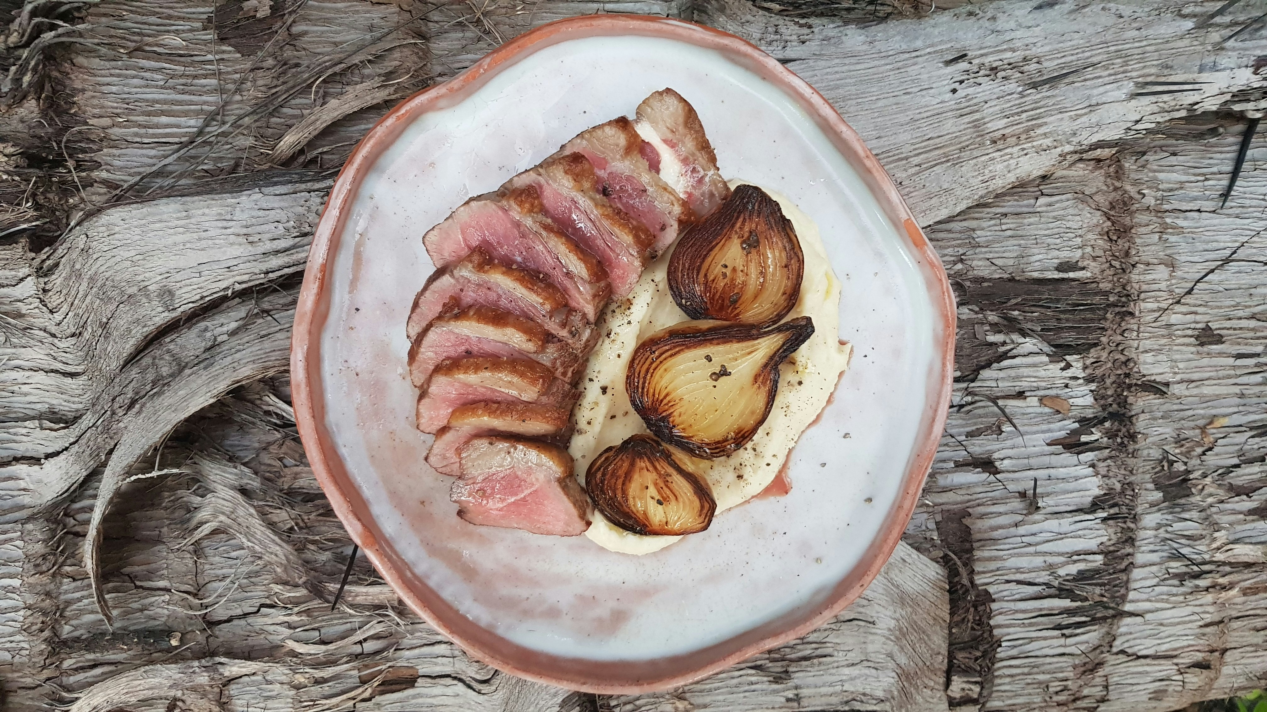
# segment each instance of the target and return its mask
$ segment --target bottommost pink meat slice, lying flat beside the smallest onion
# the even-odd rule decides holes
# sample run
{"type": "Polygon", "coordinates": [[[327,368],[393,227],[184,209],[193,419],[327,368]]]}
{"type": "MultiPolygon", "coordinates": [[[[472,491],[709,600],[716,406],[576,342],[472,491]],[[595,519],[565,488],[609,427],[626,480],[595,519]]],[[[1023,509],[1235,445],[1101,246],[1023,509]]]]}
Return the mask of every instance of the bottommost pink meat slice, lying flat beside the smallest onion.
{"type": "Polygon", "coordinates": [[[461,476],[449,498],[473,524],[576,536],[589,527],[589,498],[557,445],[476,437],[459,450],[461,476]]]}

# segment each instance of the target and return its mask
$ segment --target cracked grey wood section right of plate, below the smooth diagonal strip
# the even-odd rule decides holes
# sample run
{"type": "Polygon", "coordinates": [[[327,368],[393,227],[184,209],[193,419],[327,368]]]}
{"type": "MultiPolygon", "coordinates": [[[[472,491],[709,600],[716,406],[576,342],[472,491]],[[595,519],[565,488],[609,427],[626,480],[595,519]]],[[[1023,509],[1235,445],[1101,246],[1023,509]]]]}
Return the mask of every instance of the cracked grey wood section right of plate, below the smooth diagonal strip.
{"type": "Polygon", "coordinates": [[[1218,210],[1239,129],[1172,124],[930,231],[976,355],[908,530],[950,573],[952,704],[1171,708],[1267,674],[1261,163],[1218,210]]]}

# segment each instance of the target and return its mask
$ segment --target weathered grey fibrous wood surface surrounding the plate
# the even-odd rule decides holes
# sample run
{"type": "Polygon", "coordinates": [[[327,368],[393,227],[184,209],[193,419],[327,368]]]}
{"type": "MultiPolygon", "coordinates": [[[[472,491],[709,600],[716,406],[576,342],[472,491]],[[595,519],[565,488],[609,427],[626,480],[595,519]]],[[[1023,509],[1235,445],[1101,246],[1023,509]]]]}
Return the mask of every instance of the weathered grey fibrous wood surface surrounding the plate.
{"type": "Polygon", "coordinates": [[[1219,209],[1261,3],[14,5],[4,708],[1169,709],[1267,680],[1267,138],[1219,209]],[[351,142],[590,11],[706,22],[813,82],[960,302],[915,549],[805,640],[626,698],[470,661],[364,564],[331,612],[348,542],[284,375],[351,142]]]}

